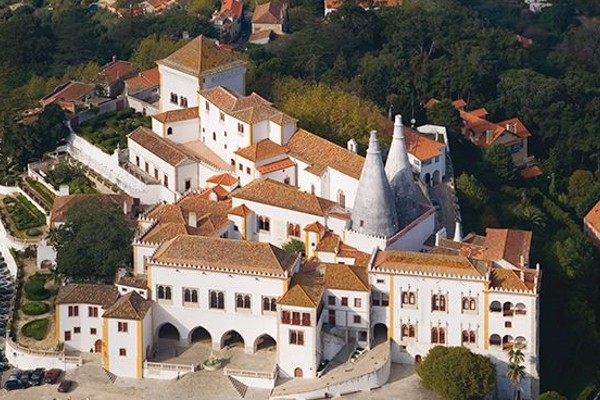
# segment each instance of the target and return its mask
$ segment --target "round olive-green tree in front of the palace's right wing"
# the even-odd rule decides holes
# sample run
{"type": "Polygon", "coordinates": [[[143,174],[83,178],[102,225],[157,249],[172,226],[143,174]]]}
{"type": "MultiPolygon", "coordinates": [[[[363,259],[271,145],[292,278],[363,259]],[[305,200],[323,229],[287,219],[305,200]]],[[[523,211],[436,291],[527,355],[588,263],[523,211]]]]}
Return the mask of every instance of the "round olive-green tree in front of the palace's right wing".
{"type": "Polygon", "coordinates": [[[434,347],[417,366],[417,373],[426,387],[445,400],[482,399],[496,383],[490,359],[465,347],[434,347]]]}

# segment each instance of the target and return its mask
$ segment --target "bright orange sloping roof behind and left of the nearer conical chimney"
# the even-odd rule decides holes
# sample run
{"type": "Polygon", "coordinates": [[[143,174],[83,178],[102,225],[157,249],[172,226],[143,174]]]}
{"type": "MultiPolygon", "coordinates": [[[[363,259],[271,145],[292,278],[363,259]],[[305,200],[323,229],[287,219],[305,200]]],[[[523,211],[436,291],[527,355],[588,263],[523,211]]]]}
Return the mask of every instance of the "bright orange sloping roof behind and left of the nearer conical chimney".
{"type": "Polygon", "coordinates": [[[304,129],[298,129],[286,147],[290,155],[310,164],[311,172],[315,175],[321,175],[330,167],[360,179],[365,162],[363,157],[304,129]]]}

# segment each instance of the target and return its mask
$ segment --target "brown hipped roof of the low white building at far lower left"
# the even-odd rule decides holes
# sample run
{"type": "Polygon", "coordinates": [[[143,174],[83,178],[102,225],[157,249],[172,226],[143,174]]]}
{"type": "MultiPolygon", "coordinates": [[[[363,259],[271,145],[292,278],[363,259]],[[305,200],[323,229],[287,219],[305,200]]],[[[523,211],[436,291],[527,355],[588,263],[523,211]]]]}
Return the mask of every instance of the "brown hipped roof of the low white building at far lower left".
{"type": "Polygon", "coordinates": [[[93,283],[69,283],[61,286],[55,304],[98,304],[108,307],[119,297],[116,286],[93,283]]]}

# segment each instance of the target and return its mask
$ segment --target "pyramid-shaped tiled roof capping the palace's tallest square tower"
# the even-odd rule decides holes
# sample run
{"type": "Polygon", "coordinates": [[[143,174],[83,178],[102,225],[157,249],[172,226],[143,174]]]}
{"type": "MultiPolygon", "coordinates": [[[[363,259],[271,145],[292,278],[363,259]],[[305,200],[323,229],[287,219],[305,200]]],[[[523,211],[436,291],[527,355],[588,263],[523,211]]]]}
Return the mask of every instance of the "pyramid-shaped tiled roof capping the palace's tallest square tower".
{"type": "Polygon", "coordinates": [[[244,65],[244,62],[202,35],[157,63],[194,76],[244,65]]]}

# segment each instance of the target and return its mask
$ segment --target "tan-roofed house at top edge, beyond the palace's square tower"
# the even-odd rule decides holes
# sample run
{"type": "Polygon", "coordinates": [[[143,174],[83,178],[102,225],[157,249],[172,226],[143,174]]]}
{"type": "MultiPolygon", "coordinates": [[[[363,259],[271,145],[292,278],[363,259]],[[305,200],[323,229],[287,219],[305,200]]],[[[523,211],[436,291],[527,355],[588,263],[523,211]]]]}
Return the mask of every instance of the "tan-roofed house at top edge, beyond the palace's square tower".
{"type": "Polygon", "coordinates": [[[258,4],[252,14],[252,35],[249,41],[266,44],[287,30],[287,3],[271,1],[258,4]]]}

